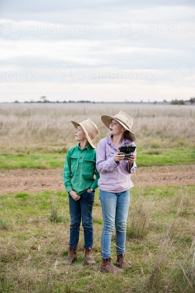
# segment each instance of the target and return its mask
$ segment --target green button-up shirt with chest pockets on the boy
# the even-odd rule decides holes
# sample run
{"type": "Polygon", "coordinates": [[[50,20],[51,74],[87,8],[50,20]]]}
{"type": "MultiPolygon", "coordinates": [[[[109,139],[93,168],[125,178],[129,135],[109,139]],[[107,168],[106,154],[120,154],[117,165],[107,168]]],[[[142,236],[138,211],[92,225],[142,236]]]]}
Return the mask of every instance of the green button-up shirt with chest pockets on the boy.
{"type": "Polygon", "coordinates": [[[96,149],[90,144],[80,149],[80,143],[71,147],[66,155],[63,180],[66,191],[77,191],[78,195],[88,188],[95,190],[98,185],[99,172],[96,169],[96,149]],[[94,175],[96,179],[94,179],[94,175]]]}

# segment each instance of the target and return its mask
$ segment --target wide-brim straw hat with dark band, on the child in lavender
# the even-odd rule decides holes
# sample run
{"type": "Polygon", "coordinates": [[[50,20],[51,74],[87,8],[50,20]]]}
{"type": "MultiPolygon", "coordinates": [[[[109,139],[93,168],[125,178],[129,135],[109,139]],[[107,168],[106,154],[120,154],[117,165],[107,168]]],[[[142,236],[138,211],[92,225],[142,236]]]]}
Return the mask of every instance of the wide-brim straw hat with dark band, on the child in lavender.
{"type": "Polygon", "coordinates": [[[133,126],[133,120],[129,115],[120,111],[118,114],[114,115],[113,117],[109,115],[101,116],[101,121],[109,129],[110,129],[112,119],[117,120],[127,130],[125,133],[125,137],[127,139],[132,140],[132,142],[136,140],[135,134],[131,131],[131,128],[133,126]]]}

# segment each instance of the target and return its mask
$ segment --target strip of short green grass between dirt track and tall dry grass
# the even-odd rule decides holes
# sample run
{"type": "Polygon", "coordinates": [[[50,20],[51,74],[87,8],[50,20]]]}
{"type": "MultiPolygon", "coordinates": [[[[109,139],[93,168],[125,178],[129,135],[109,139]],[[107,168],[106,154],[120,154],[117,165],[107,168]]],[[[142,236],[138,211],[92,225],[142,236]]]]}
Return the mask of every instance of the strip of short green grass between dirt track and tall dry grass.
{"type": "MultiPolygon", "coordinates": [[[[0,154],[0,169],[63,168],[66,153],[0,154]]],[[[163,166],[195,163],[194,149],[137,150],[137,166],[163,166]]]]}

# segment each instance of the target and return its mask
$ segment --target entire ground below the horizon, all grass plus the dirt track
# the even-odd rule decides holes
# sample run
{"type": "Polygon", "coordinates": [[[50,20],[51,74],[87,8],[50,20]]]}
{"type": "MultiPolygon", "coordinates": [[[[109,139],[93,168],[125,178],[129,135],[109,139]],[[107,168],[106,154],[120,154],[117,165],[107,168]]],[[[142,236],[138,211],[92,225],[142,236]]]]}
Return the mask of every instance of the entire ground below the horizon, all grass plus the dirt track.
{"type": "MultiPolygon", "coordinates": [[[[194,293],[195,106],[152,103],[0,104],[0,292],[194,293]],[[102,274],[99,190],[93,209],[94,258],[87,266],[81,227],[78,260],[66,267],[68,194],[62,170],[74,127],[128,113],[137,140],[126,258],[132,268],[102,274]],[[51,221],[53,219],[53,221],[51,221]]],[[[115,235],[111,244],[115,263],[115,235]]]]}

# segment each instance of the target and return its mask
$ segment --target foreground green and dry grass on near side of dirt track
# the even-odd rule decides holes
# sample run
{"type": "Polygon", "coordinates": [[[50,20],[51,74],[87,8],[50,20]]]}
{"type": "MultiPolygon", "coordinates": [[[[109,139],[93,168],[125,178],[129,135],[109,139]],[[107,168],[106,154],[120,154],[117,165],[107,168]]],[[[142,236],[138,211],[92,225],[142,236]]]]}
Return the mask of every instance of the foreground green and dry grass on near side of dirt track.
{"type": "MultiPolygon", "coordinates": [[[[94,202],[96,265],[84,263],[81,227],[78,260],[62,265],[68,255],[69,210],[66,192],[0,196],[0,292],[194,293],[195,188],[133,188],[127,223],[126,259],[121,275],[99,272],[102,215],[94,202]],[[59,219],[58,221],[57,219],[59,219]],[[53,219],[53,220],[52,220],[53,219]]],[[[115,263],[114,236],[111,243],[115,263]]]]}

